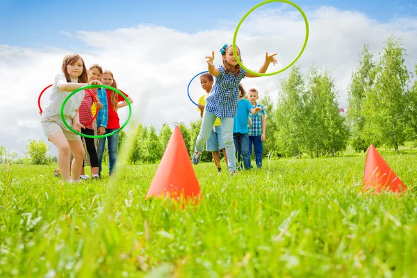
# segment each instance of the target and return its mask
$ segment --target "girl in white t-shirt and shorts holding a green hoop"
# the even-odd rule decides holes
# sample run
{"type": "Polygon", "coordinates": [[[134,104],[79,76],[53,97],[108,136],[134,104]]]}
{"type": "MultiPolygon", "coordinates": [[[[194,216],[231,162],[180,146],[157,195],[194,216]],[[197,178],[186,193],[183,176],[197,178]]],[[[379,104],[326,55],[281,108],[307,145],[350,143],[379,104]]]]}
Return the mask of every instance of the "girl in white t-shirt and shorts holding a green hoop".
{"type": "MultiPolygon", "coordinates": [[[[79,54],[65,56],[62,73],[55,76],[49,102],[42,113],[40,123],[48,140],[58,149],[58,169],[63,181],[79,181],[84,149],[81,137],[70,131],[63,123],[60,115],[61,106],[70,92],[88,84],[101,85],[101,82],[91,81],[88,83],[87,69],[79,54]],[[70,152],[74,156],[72,175],[70,174],[70,152]]],[[[76,93],[67,101],[64,109],[65,121],[78,132],[81,132],[81,128],[84,127],[79,122],[79,107],[83,98],[84,91],[76,93]]]]}

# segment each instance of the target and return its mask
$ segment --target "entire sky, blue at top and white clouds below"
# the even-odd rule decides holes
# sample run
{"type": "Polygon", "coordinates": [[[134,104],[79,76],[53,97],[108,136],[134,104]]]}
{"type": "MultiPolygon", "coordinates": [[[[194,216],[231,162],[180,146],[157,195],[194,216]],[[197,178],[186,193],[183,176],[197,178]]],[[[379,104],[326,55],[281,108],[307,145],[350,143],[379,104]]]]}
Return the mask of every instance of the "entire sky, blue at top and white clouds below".
{"type": "MultiPolygon", "coordinates": [[[[0,145],[24,154],[29,139],[44,140],[38,96],[60,72],[63,57],[83,56],[87,67],[99,63],[115,74],[129,94],[132,123],[188,123],[199,117],[187,96],[190,79],[207,70],[205,56],[231,44],[240,19],[261,1],[3,1],[0,0],[0,145]],[[38,2],[38,3],[37,3],[38,2]],[[7,120],[5,120],[7,119],[7,120]]],[[[309,41],[297,61],[303,74],[312,65],[334,77],[339,107],[348,106],[346,89],[364,44],[378,57],[389,35],[400,38],[405,61],[414,72],[417,62],[417,0],[295,1],[309,19],[309,41]]],[[[277,53],[275,72],[290,63],[305,35],[300,13],[287,3],[268,3],[240,26],[236,43],[243,62],[258,70],[265,52],[277,53]]],[[[243,79],[245,88],[268,91],[288,70],[274,76],[243,79]]],[[[41,105],[47,104],[50,91],[41,105]]],[[[190,85],[197,101],[203,93],[198,79],[190,85]]],[[[120,111],[121,124],[128,108],[120,111]]],[[[126,126],[126,129],[129,129],[126,126]]]]}

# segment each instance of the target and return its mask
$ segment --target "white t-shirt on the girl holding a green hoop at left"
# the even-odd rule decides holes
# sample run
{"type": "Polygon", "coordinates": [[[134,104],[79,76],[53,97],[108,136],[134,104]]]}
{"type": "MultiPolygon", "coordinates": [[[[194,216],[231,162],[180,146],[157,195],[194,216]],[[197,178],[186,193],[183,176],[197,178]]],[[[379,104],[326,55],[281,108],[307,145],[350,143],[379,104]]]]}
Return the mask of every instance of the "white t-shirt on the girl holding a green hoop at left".
{"type": "MultiPolygon", "coordinates": [[[[78,79],[72,79],[71,82],[78,83],[78,79]]],[[[52,85],[52,92],[49,95],[49,102],[42,112],[42,117],[51,117],[53,115],[60,115],[61,107],[65,99],[72,92],[65,92],[58,89],[58,85],[67,83],[67,79],[64,74],[56,74],[54,85],[52,85]]],[[[84,99],[84,90],[76,92],[68,99],[64,108],[65,117],[74,117],[75,111],[80,107],[81,102],[84,99]]]]}

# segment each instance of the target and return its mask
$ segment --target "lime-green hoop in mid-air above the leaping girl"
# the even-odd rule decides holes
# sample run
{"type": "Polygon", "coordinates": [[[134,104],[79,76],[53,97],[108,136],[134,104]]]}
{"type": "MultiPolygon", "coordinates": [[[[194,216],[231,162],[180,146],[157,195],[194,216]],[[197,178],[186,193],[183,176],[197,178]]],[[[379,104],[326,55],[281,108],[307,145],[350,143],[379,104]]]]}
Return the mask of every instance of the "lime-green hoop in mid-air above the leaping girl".
{"type": "Polygon", "coordinates": [[[251,8],[249,10],[249,12],[247,12],[245,14],[245,16],[243,16],[243,18],[240,19],[240,22],[239,22],[238,26],[236,27],[235,33],[233,35],[233,54],[234,54],[234,56],[236,58],[236,61],[240,65],[240,67],[242,67],[247,72],[250,72],[251,74],[254,74],[256,76],[270,76],[270,75],[274,75],[274,74],[279,74],[279,72],[284,72],[284,70],[287,70],[288,67],[291,67],[298,60],[298,58],[300,58],[301,54],[304,52],[304,49],[306,48],[306,45],[307,45],[307,40],[309,40],[309,21],[307,20],[307,17],[306,17],[306,14],[304,13],[304,11],[299,6],[297,6],[295,3],[291,2],[291,1],[288,1],[288,0],[267,0],[267,1],[263,1],[262,3],[259,3],[258,5],[254,6],[253,8],[251,8]],[[256,10],[256,8],[259,8],[260,6],[263,6],[266,3],[271,3],[271,2],[284,2],[284,3],[288,3],[291,6],[294,6],[295,8],[297,8],[297,10],[300,11],[302,17],[304,17],[304,22],[306,24],[306,38],[304,40],[304,45],[302,46],[302,49],[301,49],[300,53],[297,55],[297,57],[295,57],[295,59],[293,60],[293,62],[289,63],[288,65],[286,65],[286,67],[282,68],[281,70],[278,70],[277,72],[271,72],[269,74],[262,74],[262,73],[259,73],[259,72],[252,72],[252,70],[247,69],[242,64],[242,62],[240,62],[240,59],[238,58],[238,54],[236,52],[236,37],[238,35],[239,27],[243,23],[243,20],[245,20],[245,18],[248,15],[250,15],[250,13],[252,13],[254,10],[256,10]]]}

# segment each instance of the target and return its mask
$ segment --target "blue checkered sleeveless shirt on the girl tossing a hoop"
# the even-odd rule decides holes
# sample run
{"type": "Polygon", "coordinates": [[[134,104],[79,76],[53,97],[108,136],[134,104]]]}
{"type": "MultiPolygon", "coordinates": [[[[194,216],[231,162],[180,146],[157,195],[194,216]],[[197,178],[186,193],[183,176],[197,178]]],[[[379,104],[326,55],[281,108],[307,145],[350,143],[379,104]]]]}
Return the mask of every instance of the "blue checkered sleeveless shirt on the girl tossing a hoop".
{"type": "Polygon", "coordinates": [[[226,74],[222,65],[218,67],[220,74],[215,77],[215,83],[206,99],[206,111],[214,113],[220,119],[236,117],[239,102],[239,83],[245,78],[246,71],[240,69],[240,74],[226,74]]]}

